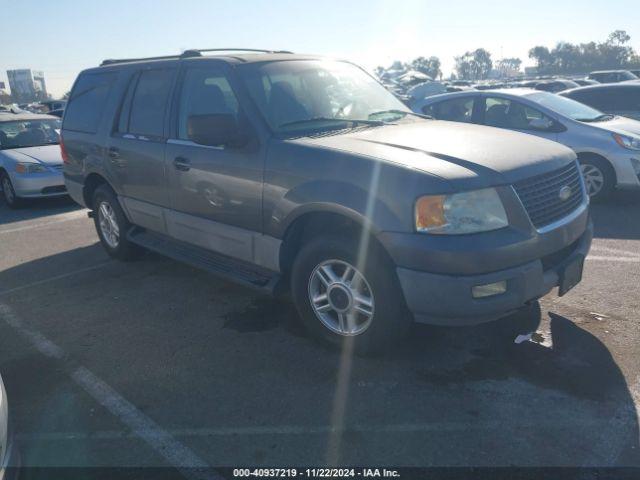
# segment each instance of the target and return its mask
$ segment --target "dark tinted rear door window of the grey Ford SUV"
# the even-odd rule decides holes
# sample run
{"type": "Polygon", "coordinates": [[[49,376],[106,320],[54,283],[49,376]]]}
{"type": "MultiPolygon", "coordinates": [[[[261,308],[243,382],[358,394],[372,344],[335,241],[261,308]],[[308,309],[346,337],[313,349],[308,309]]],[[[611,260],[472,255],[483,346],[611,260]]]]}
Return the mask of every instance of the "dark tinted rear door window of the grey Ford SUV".
{"type": "Polygon", "coordinates": [[[131,102],[129,128],[135,135],[162,137],[174,70],[145,70],[140,74],[131,102]]]}

